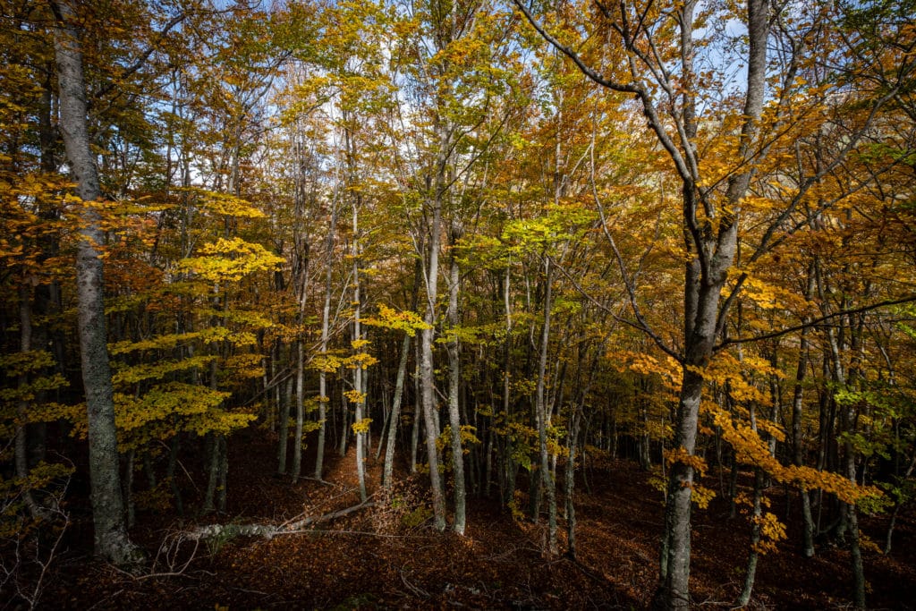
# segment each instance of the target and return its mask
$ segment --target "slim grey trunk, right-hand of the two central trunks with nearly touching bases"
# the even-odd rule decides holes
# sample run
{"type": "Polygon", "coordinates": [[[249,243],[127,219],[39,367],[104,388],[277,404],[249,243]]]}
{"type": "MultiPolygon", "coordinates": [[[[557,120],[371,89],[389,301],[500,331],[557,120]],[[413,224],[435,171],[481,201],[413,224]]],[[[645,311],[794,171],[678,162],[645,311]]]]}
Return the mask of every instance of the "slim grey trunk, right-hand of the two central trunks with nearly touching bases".
{"type": "MultiPolygon", "coordinates": [[[[458,326],[458,292],[461,288],[455,246],[463,234],[463,227],[457,220],[453,220],[450,233],[452,248],[449,257],[449,305],[445,317],[449,328],[454,329],[458,326]]],[[[461,346],[457,335],[450,338],[445,347],[449,359],[449,425],[452,429],[452,469],[454,476],[455,518],[452,528],[459,535],[463,535],[466,526],[465,504],[467,493],[464,486],[464,451],[461,443],[461,414],[458,402],[461,385],[461,346]]]]}

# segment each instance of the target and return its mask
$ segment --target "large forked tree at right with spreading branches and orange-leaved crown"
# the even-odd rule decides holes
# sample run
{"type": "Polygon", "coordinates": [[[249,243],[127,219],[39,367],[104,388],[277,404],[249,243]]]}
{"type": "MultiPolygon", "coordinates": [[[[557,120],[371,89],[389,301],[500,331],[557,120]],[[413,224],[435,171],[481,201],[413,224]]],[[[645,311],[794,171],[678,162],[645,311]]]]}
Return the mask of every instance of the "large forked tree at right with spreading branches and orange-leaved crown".
{"type": "MultiPolygon", "coordinates": [[[[583,7],[583,13],[594,24],[589,30],[600,33],[590,40],[603,42],[580,48],[581,43],[568,38],[565,32],[551,34],[551,27],[542,24],[528,5],[520,0],[516,0],[516,5],[544,38],[594,82],[638,100],[649,130],[670,158],[680,182],[683,254],[688,261],[683,285],[684,326],[682,341],[678,342],[682,347],[675,350],[646,324],[636,300],[632,300],[632,306],[638,324],[682,366],[674,436],[676,454],[671,461],[666,496],[657,601],[666,608],[686,608],[690,605],[692,488],[697,469],[704,468],[695,454],[703,387],[708,377],[704,372],[718,352],[716,339],[748,278],[746,271],[736,273],[733,269],[742,218],[747,214],[747,196],[758,180],[761,167],[779,149],[780,137],[788,128],[799,125],[792,118],[798,104],[793,96],[818,97],[798,78],[805,73],[806,66],[826,60],[814,59],[811,46],[814,39],[820,38],[818,42],[829,48],[836,44],[839,32],[808,25],[821,17],[817,6],[786,5],[772,9],[769,3],[749,0],[736,13],[723,7],[701,8],[693,2],[671,7],[596,3],[583,7]],[[789,17],[795,18],[793,11],[812,21],[802,19],[788,25],[789,17]],[[709,52],[704,49],[714,48],[715,41],[714,35],[699,28],[703,21],[712,18],[733,20],[743,26],[742,35],[747,42],[738,45],[735,41],[732,43],[735,47],[725,49],[746,62],[747,70],[740,77],[726,77],[715,69],[704,70],[703,53],[709,52]],[[661,32],[677,32],[677,35],[662,36],[661,32]],[[774,42],[780,49],[781,63],[777,65],[781,70],[775,72],[777,84],[768,93],[768,78],[774,75],[768,49],[774,42]],[[607,52],[627,60],[621,66],[609,66],[605,63],[607,52]],[[740,80],[737,96],[725,97],[717,89],[725,86],[726,79],[740,80]],[[772,100],[769,104],[768,97],[772,100]],[[713,113],[721,117],[716,121],[721,125],[718,133],[710,129],[713,113]],[[730,274],[735,278],[732,281],[730,274]]],[[[891,90],[899,89],[901,84],[895,81],[891,90]]],[[[878,97],[871,106],[872,116],[891,97],[890,92],[878,97]]],[[[843,147],[793,185],[785,207],[769,216],[765,221],[767,230],[742,258],[743,266],[753,265],[780,245],[786,235],[794,233],[793,213],[809,191],[862,141],[870,124],[867,121],[867,125],[853,131],[843,147]]],[[[821,204],[822,209],[830,205],[821,204]]]]}

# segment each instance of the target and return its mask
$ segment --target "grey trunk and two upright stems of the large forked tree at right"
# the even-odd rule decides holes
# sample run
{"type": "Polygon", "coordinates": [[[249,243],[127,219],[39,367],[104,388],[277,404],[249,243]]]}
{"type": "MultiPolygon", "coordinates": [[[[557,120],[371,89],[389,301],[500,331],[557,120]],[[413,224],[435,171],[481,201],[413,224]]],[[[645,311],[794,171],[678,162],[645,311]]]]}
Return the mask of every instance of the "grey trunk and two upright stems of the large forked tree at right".
{"type": "MultiPolygon", "coordinates": [[[[682,62],[692,76],[694,2],[683,5],[681,14],[682,62]]],[[[767,76],[767,38],[769,35],[769,3],[749,0],[747,3],[747,91],[742,125],[742,158],[750,156],[750,147],[758,133],[767,76]]],[[[684,128],[688,142],[685,153],[692,155],[690,140],[696,134],[695,111],[689,96],[684,102],[684,128]]],[[[653,126],[655,127],[655,126],[653,126]]],[[[655,127],[661,133],[662,126],[655,127]]],[[[728,180],[725,208],[721,211],[718,230],[698,223],[697,208],[705,205],[691,171],[682,172],[682,202],[684,238],[692,257],[684,273],[684,367],[682,389],[678,401],[674,447],[689,455],[696,449],[700,402],[703,396],[703,376],[698,373],[708,365],[714,352],[714,339],[720,320],[720,300],[728,268],[736,256],[737,212],[747,192],[753,164],[728,180]],[[698,201],[700,200],[700,201],[698,201]]],[[[725,302],[727,308],[728,302],[725,302]]],[[[724,311],[721,313],[725,313],[724,311]]],[[[660,571],[660,596],[657,603],[670,609],[690,606],[691,554],[691,486],[693,468],[682,462],[671,466],[666,503],[665,534],[667,560],[660,571]]]]}

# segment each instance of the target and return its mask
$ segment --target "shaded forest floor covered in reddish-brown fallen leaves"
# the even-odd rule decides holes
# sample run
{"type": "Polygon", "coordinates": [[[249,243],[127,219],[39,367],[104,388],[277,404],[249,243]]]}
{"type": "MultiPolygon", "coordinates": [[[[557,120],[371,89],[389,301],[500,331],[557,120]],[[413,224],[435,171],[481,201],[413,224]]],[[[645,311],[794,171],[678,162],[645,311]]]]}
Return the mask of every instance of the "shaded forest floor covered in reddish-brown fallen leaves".
{"type": "MultiPolygon", "coordinates": [[[[132,537],[157,562],[125,573],[93,560],[88,524],[47,577],[43,608],[71,609],[643,609],[658,572],[660,492],[628,461],[589,464],[590,491],[577,481],[578,559],[548,558],[546,528],[514,519],[495,502],[471,499],[464,537],[439,534],[428,519],[419,478],[402,479],[376,505],[326,520],[306,532],[265,538],[195,542],[187,533],[214,522],[281,524],[359,504],[353,455],[327,456],[326,483],[290,486],[276,469],[276,441],[251,429],[245,453],[230,443],[229,511],[180,521],[168,511],[139,512],[132,537]]],[[[306,463],[310,465],[311,462],[306,463]]],[[[369,469],[378,489],[379,465],[369,469]]],[[[708,483],[718,486],[718,479],[708,483]]],[[[773,510],[784,513],[781,491],[773,510]]],[[[191,499],[192,500],[192,499],[191,499]]],[[[526,506],[526,504],[523,505],[526,506]]],[[[729,519],[714,499],[695,509],[692,596],[696,607],[731,609],[747,562],[747,518],[729,519]]],[[[83,519],[82,522],[86,520],[83,519]]],[[[887,518],[863,518],[863,531],[883,540],[887,518]]],[[[561,520],[561,531],[565,522],[561,520]]],[[[823,545],[804,559],[797,533],[763,556],[749,608],[829,609],[849,606],[848,551],[823,545]]],[[[561,538],[566,549],[565,533],[561,538]]],[[[899,518],[893,553],[865,552],[870,608],[916,608],[916,518],[899,518]]],[[[0,596],[2,598],[2,596],[0,596]]],[[[0,607],[5,607],[0,601],[0,607]]]]}

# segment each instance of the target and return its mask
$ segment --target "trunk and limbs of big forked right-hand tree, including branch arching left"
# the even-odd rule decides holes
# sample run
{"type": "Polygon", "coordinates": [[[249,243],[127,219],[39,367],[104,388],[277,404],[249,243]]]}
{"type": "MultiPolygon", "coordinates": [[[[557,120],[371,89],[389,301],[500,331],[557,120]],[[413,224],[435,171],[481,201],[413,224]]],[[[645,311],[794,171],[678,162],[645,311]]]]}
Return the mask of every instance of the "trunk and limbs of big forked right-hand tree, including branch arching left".
{"type": "MultiPolygon", "coordinates": [[[[615,81],[602,76],[585,64],[571,48],[564,46],[551,36],[534,18],[526,3],[513,0],[526,16],[532,27],[556,49],[569,57],[583,73],[603,87],[619,93],[635,95],[649,122],[649,129],[658,138],[660,146],[668,154],[674,169],[682,181],[682,222],[683,236],[688,261],[684,273],[684,341],[681,355],[665,346],[657,335],[653,335],[661,347],[670,355],[680,356],[682,361],[682,389],[676,408],[674,446],[688,455],[696,448],[697,426],[700,401],[703,394],[702,371],[714,354],[714,338],[720,321],[730,305],[730,298],[722,304],[720,300],[725,287],[729,267],[735,260],[738,214],[741,199],[747,192],[752,173],[757,166],[755,159],[759,121],[762,113],[767,84],[767,38],[769,36],[769,3],[766,0],[749,0],[747,3],[747,88],[742,112],[741,139],[738,156],[744,163],[736,169],[725,186],[725,197],[721,206],[711,198],[711,193],[701,187],[701,173],[698,152],[694,139],[697,134],[697,89],[694,86],[694,43],[696,1],[678,5],[673,19],[680,30],[678,82],[671,81],[671,72],[658,66],[650,53],[640,51],[642,37],[652,33],[640,21],[636,30],[628,27],[618,29],[618,41],[627,49],[627,80],[615,81]],[[636,38],[640,37],[637,42],[636,38]],[[662,90],[667,91],[664,106],[656,99],[646,82],[648,68],[650,78],[656,79],[662,90]],[[677,93],[675,93],[677,92],[677,93]],[[674,96],[680,101],[676,112],[662,117],[674,96]],[[672,136],[669,119],[677,128],[672,136]]],[[[608,10],[611,10],[609,7],[608,10]]],[[[626,10],[626,7],[623,8],[626,10]]],[[[623,50],[623,49],[621,49],[623,50]]],[[[624,54],[621,53],[623,57],[624,54]]],[[[612,240],[613,246],[613,240],[612,240]]],[[[616,248],[616,246],[615,246],[616,248]]],[[[618,256],[619,258],[619,256],[618,256]]],[[[626,279],[626,278],[625,278],[626,279]]],[[[630,303],[642,320],[635,287],[627,281],[630,303]]],[[[645,326],[645,325],[644,325],[645,326]]],[[[647,327],[648,329],[648,327],[647,327]]],[[[691,540],[691,486],[693,468],[688,463],[672,466],[665,505],[665,526],[662,535],[659,590],[654,606],[667,609],[684,609],[690,606],[690,540],[691,540]]]]}

